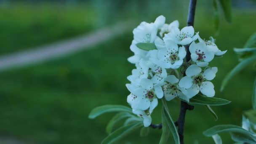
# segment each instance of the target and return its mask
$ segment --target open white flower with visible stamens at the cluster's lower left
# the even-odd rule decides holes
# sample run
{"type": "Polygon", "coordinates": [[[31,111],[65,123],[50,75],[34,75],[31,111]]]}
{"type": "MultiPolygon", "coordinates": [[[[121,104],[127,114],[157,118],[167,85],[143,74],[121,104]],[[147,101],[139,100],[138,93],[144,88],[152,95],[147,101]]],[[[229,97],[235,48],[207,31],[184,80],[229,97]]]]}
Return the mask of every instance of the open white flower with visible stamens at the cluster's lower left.
{"type": "Polygon", "coordinates": [[[140,87],[132,84],[126,84],[126,87],[131,92],[127,97],[127,102],[132,109],[146,110],[150,107],[156,107],[158,104],[157,98],[163,97],[161,86],[153,85],[152,81],[146,78],[141,79],[140,87]]]}

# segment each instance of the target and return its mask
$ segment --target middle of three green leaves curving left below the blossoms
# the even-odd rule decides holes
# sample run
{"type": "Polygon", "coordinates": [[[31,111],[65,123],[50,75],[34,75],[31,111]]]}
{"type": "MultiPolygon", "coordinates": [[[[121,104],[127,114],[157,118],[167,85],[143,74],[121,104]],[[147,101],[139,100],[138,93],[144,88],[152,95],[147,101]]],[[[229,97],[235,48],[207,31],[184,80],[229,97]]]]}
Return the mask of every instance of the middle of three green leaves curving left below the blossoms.
{"type": "Polygon", "coordinates": [[[118,123],[120,120],[126,118],[126,117],[133,117],[132,114],[128,113],[128,112],[120,112],[118,113],[117,115],[115,115],[110,121],[109,123],[107,124],[107,128],[106,128],[106,131],[107,133],[111,133],[112,132],[112,129],[114,127],[114,125],[116,123],[118,123]]]}

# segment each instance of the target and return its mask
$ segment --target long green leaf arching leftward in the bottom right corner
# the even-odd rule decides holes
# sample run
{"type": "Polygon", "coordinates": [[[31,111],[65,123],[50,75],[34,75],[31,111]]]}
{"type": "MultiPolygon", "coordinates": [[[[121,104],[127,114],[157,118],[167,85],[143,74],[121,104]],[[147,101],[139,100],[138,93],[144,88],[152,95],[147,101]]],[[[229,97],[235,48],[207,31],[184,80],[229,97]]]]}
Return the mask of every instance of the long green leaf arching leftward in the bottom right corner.
{"type": "Polygon", "coordinates": [[[221,133],[221,132],[236,132],[236,133],[243,133],[245,135],[253,136],[253,133],[246,131],[245,129],[243,129],[237,125],[216,125],[216,126],[213,126],[212,128],[209,128],[208,130],[204,131],[203,134],[205,136],[213,136],[213,135],[215,135],[217,133],[221,133]]]}

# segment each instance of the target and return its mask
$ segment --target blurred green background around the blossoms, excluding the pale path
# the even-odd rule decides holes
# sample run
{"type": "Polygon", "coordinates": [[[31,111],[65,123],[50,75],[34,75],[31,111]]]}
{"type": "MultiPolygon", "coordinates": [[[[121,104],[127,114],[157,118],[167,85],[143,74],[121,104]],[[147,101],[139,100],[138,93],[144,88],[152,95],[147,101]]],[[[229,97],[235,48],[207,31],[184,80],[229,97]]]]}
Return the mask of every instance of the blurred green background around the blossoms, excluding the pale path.
{"type": "MultiPolygon", "coordinates": [[[[121,34],[110,40],[61,58],[1,70],[1,144],[99,144],[107,136],[105,126],[114,114],[95,120],[88,119],[88,114],[104,104],[128,106],[125,83],[134,68],[127,61],[133,55],[129,49],[132,29],[141,21],[154,21],[159,15],[164,15],[167,23],[179,20],[184,27],[188,3],[188,0],[0,0],[0,58],[129,20],[123,23],[128,30],[117,29],[121,34]]],[[[214,36],[219,48],[228,50],[223,58],[214,59],[211,66],[219,68],[213,80],[216,97],[232,103],[212,107],[218,121],[200,105],[187,112],[187,144],[213,144],[211,138],[203,136],[203,131],[218,124],[241,125],[243,111],[252,107],[256,72],[252,65],[235,76],[223,92],[219,91],[224,76],[238,63],[232,48],[242,48],[256,32],[255,1],[232,0],[232,8],[232,24],[221,18],[216,35],[212,0],[197,0],[195,31],[204,38],[214,36]]],[[[179,101],[168,105],[176,120],[179,101]]],[[[153,123],[161,122],[160,114],[161,106],[152,115],[153,123]]],[[[161,130],[151,129],[148,137],[141,138],[138,130],[117,144],[157,144],[160,135],[161,130]]],[[[224,144],[232,143],[228,133],[221,136],[224,144]]]]}

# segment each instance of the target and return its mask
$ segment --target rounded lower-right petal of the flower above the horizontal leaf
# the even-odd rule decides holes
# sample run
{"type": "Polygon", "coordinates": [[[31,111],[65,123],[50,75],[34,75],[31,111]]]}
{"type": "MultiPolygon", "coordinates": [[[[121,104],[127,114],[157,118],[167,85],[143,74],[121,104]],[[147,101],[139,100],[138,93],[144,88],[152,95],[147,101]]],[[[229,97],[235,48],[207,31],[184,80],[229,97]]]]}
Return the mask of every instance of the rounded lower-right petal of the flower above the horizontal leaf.
{"type": "Polygon", "coordinates": [[[215,95],[214,85],[209,81],[202,83],[202,85],[200,86],[200,91],[208,97],[213,97],[215,95]]]}

